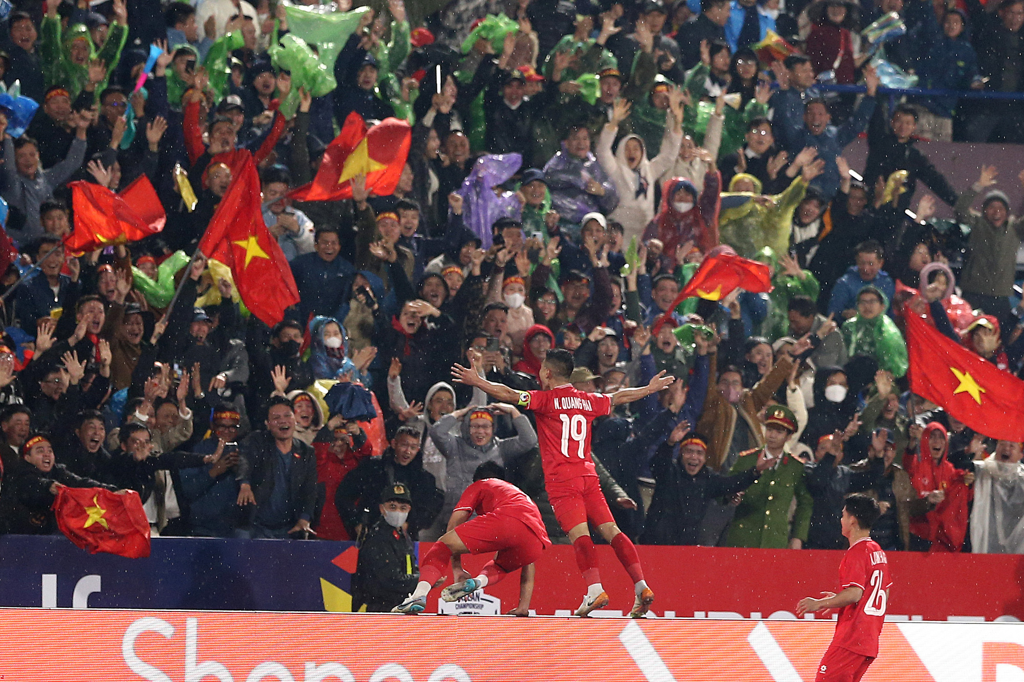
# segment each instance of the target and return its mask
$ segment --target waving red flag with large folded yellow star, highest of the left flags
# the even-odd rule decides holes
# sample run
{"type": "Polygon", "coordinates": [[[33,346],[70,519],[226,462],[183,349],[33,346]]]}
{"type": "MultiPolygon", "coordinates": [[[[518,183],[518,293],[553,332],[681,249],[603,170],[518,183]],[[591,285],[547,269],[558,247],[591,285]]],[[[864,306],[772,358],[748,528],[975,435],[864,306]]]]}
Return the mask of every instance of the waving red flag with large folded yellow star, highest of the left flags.
{"type": "Polygon", "coordinates": [[[298,202],[351,199],[349,180],[360,173],[367,176],[369,191],[387,197],[398,186],[412,140],[413,129],[404,121],[387,118],[368,131],[362,117],[352,112],[324,151],[316,177],[289,197],[298,202]]]}

